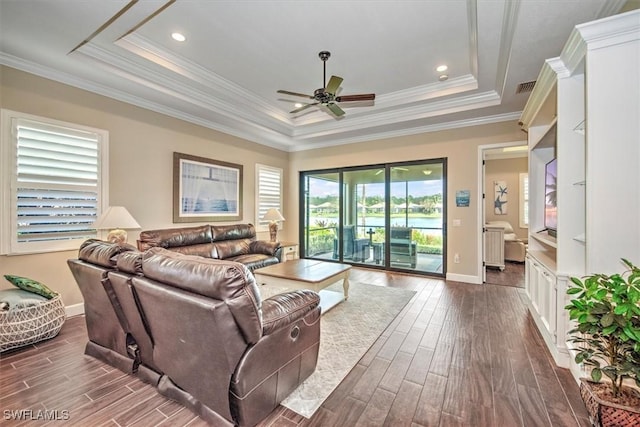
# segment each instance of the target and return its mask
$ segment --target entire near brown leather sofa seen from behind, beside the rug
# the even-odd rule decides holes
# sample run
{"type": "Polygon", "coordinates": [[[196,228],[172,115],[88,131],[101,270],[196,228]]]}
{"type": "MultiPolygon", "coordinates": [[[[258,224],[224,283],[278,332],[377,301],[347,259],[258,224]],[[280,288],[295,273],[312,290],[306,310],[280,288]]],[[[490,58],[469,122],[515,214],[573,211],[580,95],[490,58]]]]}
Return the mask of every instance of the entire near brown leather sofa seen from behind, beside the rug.
{"type": "Polygon", "coordinates": [[[85,353],[212,425],[255,425],[315,370],[315,292],[263,301],[244,264],[132,249],[90,240],[68,261],[85,299],[85,353]]]}

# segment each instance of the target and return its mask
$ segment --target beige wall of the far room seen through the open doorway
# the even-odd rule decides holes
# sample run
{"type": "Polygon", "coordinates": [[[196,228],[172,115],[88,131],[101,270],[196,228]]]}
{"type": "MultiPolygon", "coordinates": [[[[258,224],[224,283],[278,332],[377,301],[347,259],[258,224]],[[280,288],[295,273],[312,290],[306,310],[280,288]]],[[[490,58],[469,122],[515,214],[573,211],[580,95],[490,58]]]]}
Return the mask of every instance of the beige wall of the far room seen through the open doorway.
{"type": "Polygon", "coordinates": [[[485,172],[485,219],[487,221],[508,221],[513,231],[521,239],[526,239],[527,228],[520,228],[520,174],[527,173],[529,169],[528,159],[520,157],[516,159],[487,160],[484,166],[485,172]],[[507,183],[507,214],[496,215],[493,209],[495,200],[495,181],[507,183]]]}

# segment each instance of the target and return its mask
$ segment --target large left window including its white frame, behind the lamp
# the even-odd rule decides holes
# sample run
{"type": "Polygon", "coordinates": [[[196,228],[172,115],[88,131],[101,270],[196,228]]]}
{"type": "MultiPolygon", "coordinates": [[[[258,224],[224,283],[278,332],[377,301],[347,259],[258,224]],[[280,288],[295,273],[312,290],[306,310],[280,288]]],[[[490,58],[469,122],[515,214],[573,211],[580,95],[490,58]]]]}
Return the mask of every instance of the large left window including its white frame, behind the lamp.
{"type": "Polygon", "coordinates": [[[103,130],[2,110],[3,254],[74,250],[96,237],[107,144],[103,130]]]}

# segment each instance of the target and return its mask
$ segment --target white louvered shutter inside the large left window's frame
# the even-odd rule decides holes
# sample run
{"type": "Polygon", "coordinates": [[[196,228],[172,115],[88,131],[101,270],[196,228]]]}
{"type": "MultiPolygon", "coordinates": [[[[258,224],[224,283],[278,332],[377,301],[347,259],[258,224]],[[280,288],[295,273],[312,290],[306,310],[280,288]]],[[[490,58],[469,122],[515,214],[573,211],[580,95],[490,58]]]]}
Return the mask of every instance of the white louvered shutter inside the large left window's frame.
{"type": "Polygon", "coordinates": [[[17,119],[17,243],[96,237],[98,133],[17,119]]]}

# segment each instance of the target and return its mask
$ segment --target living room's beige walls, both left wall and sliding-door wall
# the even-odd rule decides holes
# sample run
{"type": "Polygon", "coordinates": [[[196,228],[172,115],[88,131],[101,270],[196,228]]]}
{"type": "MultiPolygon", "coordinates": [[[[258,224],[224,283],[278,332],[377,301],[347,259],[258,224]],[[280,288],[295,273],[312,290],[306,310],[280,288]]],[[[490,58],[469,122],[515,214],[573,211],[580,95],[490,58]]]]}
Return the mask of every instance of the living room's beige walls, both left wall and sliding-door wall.
{"type": "MultiPolygon", "coordinates": [[[[310,151],[286,153],[192,125],[107,97],[3,67],[0,106],[15,111],[78,123],[109,131],[109,203],[123,205],[143,229],[172,227],[172,155],[174,151],[239,163],[244,166],[243,219],[254,222],[255,164],[281,167],[284,216],[279,237],[298,240],[298,172],[338,166],[415,159],[448,158],[449,274],[478,276],[478,146],[522,138],[515,121],[385,139],[310,151]],[[471,191],[471,206],[457,208],[455,192],[471,191]],[[459,253],[461,263],[453,263],[459,253]]],[[[7,207],[2,207],[7,209],[7,207]]],[[[179,226],[186,226],[181,224],[179,226]]],[[[138,233],[130,233],[130,241],[138,233]]],[[[261,233],[268,238],[268,233],[261,233]]],[[[0,256],[0,274],[32,277],[61,292],[67,306],[82,302],[66,260],[75,251],[0,256]]],[[[8,282],[0,283],[7,288],[8,282]]]]}

